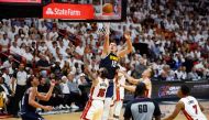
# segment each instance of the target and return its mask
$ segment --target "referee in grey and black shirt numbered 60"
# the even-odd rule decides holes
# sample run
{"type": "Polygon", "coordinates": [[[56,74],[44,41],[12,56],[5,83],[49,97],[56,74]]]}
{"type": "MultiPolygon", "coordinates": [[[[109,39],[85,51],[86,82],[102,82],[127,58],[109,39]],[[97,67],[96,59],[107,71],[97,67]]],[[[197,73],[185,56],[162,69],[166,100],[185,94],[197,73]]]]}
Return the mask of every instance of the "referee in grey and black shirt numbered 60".
{"type": "Polygon", "coordinates": [[[140,83],[135,88],[135,99],[130,101],[124,111],[124,120],[161,120],[158,103],[145,97],[146,86],[140,83]]]}

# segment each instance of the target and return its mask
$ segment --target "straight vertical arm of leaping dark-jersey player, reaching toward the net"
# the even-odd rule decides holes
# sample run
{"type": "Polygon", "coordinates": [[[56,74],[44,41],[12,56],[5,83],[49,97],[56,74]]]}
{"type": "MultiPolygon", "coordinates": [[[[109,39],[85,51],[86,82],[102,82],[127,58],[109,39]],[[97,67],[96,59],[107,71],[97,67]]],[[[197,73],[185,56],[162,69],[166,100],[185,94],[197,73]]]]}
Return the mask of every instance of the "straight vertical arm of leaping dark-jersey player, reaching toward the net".
{"type": "Polygon", "coordinates": [[[109,35],[110,35],[110,24],[109,23],[105,23],[105,29],[106,29],[106,35],[105,35],[105,42],[103,42],[103,51],[101,54],[101,57],[106,57],[107,54],[109,53],[109,35]]]}

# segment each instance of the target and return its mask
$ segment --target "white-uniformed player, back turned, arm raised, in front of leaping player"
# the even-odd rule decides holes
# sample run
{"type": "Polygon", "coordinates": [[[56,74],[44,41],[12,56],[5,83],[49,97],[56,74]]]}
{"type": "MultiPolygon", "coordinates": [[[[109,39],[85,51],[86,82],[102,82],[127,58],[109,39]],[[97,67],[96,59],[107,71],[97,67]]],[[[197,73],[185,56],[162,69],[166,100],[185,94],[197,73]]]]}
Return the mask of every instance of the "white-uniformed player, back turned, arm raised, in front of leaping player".
{"type": "MultiPolygon", "coordinates": [[[[87,64],[86,64],[87,65],[87,64]]],[[[103,101],[109,86],[107,79],[108,70],[101,67],[98,75],[91,73],[88,66],[85,67],[85,73],[92,79],[89,100],[80,117],[81,120],[101,120],[103,112],[103,101]]]]}

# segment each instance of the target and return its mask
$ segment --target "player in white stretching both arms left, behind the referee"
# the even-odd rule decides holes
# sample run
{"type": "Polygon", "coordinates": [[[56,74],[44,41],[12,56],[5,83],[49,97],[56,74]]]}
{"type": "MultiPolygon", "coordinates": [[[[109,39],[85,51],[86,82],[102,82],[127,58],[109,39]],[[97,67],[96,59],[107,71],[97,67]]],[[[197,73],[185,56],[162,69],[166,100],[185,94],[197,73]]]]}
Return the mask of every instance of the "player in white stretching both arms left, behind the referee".
{"type": "Polygon", "coordinates": [[[135,91],[135,85],[138,85],[139,83],[144,83],[146,85],[146,97],[151,98],[151,94],[152,94],[152,83],[151,83],[151,77],[153,76],[153,69],[152,68],[147,68],[142,73],[142,78],[140,79],[135,79],[131,76],[129,76],[123,70],[119,70],[120,73],[122,73],[125,78],[133,84],[133,86],[129,86],[129,85],[123,85],[121,84],[122,87],[124,87],[127,90],[130,90],[132,92],[135,91]]]}

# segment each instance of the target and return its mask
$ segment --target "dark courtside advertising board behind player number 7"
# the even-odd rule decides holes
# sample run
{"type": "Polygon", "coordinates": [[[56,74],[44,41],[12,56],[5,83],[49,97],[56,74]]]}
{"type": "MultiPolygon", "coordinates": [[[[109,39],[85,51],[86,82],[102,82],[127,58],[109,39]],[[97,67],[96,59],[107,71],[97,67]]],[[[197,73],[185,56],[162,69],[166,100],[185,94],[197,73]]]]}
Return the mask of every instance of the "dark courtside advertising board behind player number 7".
{"type": "Polygon", "coordinates": [[[187,85],[191,96],[197,98],[209,98],[209,81],[153,81],[152,98],[177,98],[176,94],[182,85],[187,85]]]}

